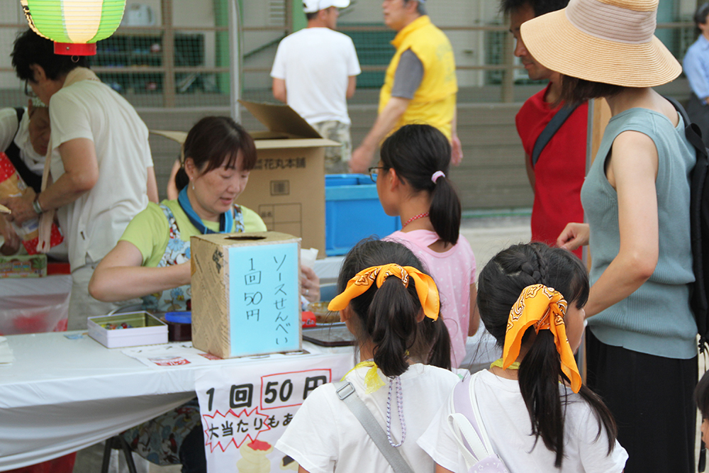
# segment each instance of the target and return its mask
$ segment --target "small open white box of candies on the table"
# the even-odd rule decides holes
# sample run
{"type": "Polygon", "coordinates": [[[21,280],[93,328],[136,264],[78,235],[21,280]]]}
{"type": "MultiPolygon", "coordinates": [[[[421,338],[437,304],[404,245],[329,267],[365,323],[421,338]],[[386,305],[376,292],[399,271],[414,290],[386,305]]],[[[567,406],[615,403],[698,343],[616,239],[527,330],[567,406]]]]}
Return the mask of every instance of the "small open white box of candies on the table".
{"type": "Polygon", "coordinates": [[[89,337],[106,348],[167,343],[167,325],[145,311],[89,317],[89,337]],[[118,328],[121,325],[130,328],[118,328]]]}

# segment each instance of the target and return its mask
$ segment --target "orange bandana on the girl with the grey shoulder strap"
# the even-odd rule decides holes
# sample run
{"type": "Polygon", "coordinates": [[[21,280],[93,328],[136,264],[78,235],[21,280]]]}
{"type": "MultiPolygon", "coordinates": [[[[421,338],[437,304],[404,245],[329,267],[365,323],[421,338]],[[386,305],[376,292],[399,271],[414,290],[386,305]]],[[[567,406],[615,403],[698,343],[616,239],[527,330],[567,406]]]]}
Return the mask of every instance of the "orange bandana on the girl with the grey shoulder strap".
{"type": "Polygon", "coordinates": [[[404,287],[408,287],[408,278],[411,277],[416,284],[416,294],[418,300],[423,307],[423,313],[426,317],[432,318],[434,321],[438,318],[440,310],[440,296],[438,288],[433,279],[423,272],[420,272],[415,267],[401,267],[396,264],[372,266],[367,269],[362,269],[347,282],[347,287],[342,294],[338,295],[328,304],[329,311],[342,311],[350,304],[350,301],[357,296],[361,296],[369,289],[374,282],[377,287],[384,284],[384,280],[389,276],[396,276],[401,279],[404,287]]]}

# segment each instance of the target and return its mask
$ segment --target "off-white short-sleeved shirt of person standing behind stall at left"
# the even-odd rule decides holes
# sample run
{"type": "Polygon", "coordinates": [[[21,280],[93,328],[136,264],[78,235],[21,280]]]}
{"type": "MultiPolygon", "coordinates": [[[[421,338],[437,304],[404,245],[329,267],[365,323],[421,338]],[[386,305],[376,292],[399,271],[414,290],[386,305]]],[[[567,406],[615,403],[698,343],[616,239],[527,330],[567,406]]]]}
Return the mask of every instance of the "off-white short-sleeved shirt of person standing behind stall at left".
{"type": "Polygon", "coordinates": [[[57,211],[72,271],[99,261],[121,238],[130,219],[147,206],[147,168],[152,166],[147,126],[135,108],[106,84],[83,80],[50,99],[52,179],[64,174],[57,149],[88,138],[96,147],[99,179],[91,191],[57,211]]]}

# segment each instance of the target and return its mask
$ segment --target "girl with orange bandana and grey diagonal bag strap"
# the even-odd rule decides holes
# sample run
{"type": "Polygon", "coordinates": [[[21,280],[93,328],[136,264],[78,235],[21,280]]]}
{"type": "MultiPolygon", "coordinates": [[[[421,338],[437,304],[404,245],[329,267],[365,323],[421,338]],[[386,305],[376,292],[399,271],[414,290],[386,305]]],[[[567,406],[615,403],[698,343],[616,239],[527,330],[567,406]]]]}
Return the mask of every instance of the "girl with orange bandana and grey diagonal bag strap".
{"type": "Polygon", "coordinates": [[[340,386],[308,395],[276,448],[301,473],[393,472],[379,447],[398,452],[415,473],[432,472],[416,439],[459,381],[450,372],[435,282],[407,247],[366,240],[345,257],[337,289],[329,308],[357,339],[359,363],[340,386]],[[348,396],[370,414],[381,445],[350,411],[348,396]]]}

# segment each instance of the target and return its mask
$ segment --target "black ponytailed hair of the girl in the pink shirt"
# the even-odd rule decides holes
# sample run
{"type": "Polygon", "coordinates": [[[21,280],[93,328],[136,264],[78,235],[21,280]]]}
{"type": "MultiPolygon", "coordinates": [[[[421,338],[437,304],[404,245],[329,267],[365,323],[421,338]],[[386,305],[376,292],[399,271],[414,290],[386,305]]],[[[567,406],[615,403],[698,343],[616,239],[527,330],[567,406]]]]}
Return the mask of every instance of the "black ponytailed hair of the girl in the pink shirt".
{"type": "Polygon", "coordinates": [[[384,169],[396,174],[414,191],[428,192],[428,211],[433,230],[445,243],[458,243],[461,205],[453,183],[448,179],[450,142],[430,125],[406,125],[386,138],[381,145],[384,169]]]}

